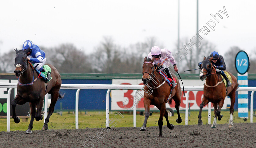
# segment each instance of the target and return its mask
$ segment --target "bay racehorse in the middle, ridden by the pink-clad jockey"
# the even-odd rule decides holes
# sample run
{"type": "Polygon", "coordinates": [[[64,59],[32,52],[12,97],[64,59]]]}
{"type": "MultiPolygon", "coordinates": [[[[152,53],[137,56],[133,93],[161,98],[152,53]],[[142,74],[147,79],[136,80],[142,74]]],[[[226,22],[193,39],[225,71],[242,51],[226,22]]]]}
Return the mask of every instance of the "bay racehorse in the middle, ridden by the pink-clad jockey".
{"type": "Polygon", "coordinates": [[[167,84],[166,79],[157,71],[157,65],[153,64],[155,57],[147,59],[144,58],[143,63],[143,76],[142,81],[146,86],[144,87],[144,108],[145,108],[145,120],[140,128],[140,131],[146,130],[147,120],[149,117],[149,106],[155,105],[160,110],[160,117],[158,120],[159,136],[162,136],[163,118],[165,117],[167,127],[173,129],[174,125],[169,123],[168,113],[165,109],[165,103],[172,103],[172,99],[175,101],[175,108],[177,110],[178,118],[177,123],[181,123],[180,118],[180,102],[181,102],[181,88],[177,77],[172,73],[172,77],[176,79],[176,87],[171,92],[171,86],[167,84]]]}

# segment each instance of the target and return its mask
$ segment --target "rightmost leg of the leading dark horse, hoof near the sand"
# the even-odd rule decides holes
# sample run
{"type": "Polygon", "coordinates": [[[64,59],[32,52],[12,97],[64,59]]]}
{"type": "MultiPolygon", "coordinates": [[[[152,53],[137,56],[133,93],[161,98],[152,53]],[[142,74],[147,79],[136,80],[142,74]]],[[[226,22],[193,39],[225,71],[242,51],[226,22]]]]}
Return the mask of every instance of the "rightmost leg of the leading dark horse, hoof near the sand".
{"type": "Polygon", "coordinates": [[[50,117],[54,111],[54,107],[55,107],[55,104],[58,100],[58,96],[59,96],[59,91],[55,91],[52,93],[52,99],[51,99],[51,104],[49,106],[49,112],[48,112],[48,115],[47,117],[45,118],[45,121],[44,121],[44,126],[43,126],[43,130],[47,130],[48,129],[48,122],[50,121],[50,117]]]}

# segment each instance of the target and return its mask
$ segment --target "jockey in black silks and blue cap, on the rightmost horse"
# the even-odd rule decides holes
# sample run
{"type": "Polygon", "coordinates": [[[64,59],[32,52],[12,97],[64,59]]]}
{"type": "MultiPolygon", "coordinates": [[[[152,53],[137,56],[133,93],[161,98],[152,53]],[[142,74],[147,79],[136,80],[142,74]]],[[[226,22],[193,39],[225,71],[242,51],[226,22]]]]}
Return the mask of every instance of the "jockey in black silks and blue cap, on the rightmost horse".
{"type": "MultiPolygon", "coordinates": [[[[219,55],[219,53],[216,51],[213,51],[211,53],[211,55],[207,57],[207,59],[210,59],[211,57],[213,57],[212,65],[214,66],[216,71],[225,78],[225,80],[227,81],[227,87],[229,87],[231,85],[231,83],[230,83],[228,77],[226,76],[226,74],[224,73],[224,71],[226,70],[226,64],[225,64],[223,57],[221,55],[219,55]]],[[[200,68],[201,68],[201,64],[202,64],[202,62],[198,63],[198,66],[200,68]]]]}

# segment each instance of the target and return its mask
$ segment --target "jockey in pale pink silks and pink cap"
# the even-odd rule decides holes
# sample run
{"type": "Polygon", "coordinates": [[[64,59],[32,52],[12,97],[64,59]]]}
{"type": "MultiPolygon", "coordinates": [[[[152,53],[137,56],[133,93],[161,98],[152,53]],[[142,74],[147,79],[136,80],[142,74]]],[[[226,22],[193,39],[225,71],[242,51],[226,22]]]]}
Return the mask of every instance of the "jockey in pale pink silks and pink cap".
{"type": "Polygon", "coordinates": [[[172,74],[170,73],[170,70],[168,68],[170,64],[172,64],[174,67],[174,70],[176,72],[178,71],[178,67],[176,65],[177,63],[176,63],[176,60],[174,60],[174,57],[172,56],[172,52],[169,51],[168,49],[165,49],[165,48],[161,49],[158,46],[154,46],[151,48],[151,52],[148,53],[148,58],[152,59],[153,57],[155,57],[153,64],[157,64],[159,69],[165,72],[168,78],[172,79],[171,89],[175,88],[177,83],[175,83],[175,81],[173,80],[172,74]]]}

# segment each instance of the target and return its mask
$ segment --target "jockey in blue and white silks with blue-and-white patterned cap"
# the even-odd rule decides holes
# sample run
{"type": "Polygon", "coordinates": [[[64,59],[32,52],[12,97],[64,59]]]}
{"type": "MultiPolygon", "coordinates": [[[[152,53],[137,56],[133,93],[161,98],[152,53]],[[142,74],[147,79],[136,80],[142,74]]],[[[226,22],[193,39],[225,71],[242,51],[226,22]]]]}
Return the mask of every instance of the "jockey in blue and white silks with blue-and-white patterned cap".
{"type": "MultiPolygon", "coordinates": [[[[45,72],[43,66],[46,63],[45,53],[41,50],[37,45],[33,44],[32,41],[26,40],[23,43],[22,50],[29,49],[30,52],[27,53],[27,59],[30,61],[31,64],[34,64],[34,68],[40,72],[45,72]]],[[[48,73],[48,75],[51,74],[48,73]]],[[[48,78],[47,75],[47,78],[48,78]]],[[[49,78],[50,78],[49,77],[49,78]]]]}

